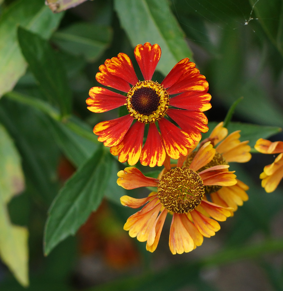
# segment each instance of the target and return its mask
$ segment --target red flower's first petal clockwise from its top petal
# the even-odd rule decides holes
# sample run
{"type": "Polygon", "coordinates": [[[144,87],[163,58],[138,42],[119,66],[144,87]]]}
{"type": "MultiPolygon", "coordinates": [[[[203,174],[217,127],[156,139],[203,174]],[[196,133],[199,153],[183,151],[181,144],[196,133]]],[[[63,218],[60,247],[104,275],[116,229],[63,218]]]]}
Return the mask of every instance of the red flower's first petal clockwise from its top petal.
{"type": "Polygon", "coordinates": [[[178,81],[178,79],[181,77],[181,75],[183,73],[185,73],[188,70],[193,69],[195,67],[196,67],[196,65],[194,63],[190,62],[189,58],[183,58],[183,60],[176,63],[176,65],[173,67],[173,69],[169,72],[169,74],[162,81],[161,85],[163,85],[164,88],[169,88],[176,81],[178,81]]]}

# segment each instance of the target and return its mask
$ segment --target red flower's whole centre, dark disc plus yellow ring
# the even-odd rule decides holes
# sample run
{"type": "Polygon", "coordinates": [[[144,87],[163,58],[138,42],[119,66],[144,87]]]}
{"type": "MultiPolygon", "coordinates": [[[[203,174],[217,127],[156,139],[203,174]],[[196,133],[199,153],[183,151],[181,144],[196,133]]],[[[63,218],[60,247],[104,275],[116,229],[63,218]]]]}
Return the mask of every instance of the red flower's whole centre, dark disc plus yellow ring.
{"type": "Polygon", "coordinates": [[[169,107],[169,95],[159,83],[141,81],[128,92],[126,105],[136,120],[154,123],[165,116],[169,107]]]}

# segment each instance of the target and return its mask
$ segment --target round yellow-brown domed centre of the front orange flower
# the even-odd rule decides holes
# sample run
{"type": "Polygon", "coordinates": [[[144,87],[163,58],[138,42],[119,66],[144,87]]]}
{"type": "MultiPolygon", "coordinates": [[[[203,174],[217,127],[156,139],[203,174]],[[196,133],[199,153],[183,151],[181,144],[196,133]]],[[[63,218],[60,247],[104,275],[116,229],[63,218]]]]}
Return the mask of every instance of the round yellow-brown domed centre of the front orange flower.
{"type": "Polygon", "coordinates": [[[200,175],[186,167],[174,168],[162,175],[157,189],[162,205],[179,214],[194,210],[204,196],[200,175]]]}

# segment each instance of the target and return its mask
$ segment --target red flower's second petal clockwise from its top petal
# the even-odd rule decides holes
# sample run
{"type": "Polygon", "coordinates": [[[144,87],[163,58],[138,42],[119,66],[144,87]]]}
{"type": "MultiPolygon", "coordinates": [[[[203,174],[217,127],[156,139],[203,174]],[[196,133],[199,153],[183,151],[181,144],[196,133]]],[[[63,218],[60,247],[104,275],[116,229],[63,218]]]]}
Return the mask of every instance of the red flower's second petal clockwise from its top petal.
{"type": "Polygon", "coordinates": [[[172,86],[167,89],[169,95],[187,91],[207,92],[208,82],[197,68],[185,72],[172,86]]]}

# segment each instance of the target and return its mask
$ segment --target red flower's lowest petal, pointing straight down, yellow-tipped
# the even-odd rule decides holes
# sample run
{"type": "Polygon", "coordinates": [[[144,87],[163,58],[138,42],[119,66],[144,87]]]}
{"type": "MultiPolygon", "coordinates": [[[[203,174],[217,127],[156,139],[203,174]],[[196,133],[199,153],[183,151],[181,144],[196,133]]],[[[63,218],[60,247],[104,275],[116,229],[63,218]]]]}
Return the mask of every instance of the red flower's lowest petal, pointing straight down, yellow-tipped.
{"type": "Polygon", "coordinates": [[[165,156],[166,153],[161,141],[161,136],[156,128],[156,125],[151,123],[149,125],[146,142],[142,148],[140,162],[143,166],[162,166],[165,156]]]}

